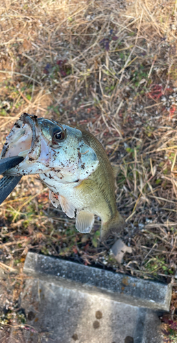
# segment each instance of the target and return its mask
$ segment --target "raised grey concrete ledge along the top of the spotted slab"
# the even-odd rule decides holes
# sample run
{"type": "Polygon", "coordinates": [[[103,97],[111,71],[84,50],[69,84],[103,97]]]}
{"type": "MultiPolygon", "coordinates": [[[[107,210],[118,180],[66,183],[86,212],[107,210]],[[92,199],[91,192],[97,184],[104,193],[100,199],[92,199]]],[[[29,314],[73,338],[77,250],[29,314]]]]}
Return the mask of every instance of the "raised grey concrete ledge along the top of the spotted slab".
{"type": "Polygon", "coordinates": [[[33,276],[45,276],[58,281],[62,287],[75,287],[120,303],[169,311],[172,285],[137,279],[87,267],[78,263],[28,252],[23,271],[33,276]]]}

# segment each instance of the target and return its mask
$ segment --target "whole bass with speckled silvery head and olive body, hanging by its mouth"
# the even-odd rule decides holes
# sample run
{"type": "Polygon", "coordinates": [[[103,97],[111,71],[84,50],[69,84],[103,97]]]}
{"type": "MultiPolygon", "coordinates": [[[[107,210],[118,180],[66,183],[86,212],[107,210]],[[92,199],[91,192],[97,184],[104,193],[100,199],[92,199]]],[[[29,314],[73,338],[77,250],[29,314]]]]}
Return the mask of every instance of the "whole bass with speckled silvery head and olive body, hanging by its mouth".
{"type": "Polygon", "coordinates": [[[125,226],[117,211],[115,169],[102,144],[83,128],[23,113],[6,137],[0,159],[22,156],[5,176],[38,174],[49,187],[49,199],[75,228],[89,233],[95,215],[102,220],[100,239],[125,226]]]}

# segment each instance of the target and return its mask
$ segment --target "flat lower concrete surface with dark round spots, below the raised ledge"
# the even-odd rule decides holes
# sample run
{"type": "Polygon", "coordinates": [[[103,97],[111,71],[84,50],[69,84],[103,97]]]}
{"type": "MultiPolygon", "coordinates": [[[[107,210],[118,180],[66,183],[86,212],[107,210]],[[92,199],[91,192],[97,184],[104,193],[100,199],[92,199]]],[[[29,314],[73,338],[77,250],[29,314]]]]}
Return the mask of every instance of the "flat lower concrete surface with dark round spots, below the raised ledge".
{"type": "MultiPolygon", "coordinates": [[[[118,303],[44,279],[28,279],[21,295],[25,343],[162,343],[151,310],[118,303]],[[39,340],[40,339],[40,340],[39,340]]],[[[12,334],[9,343],[14,343],[12,334]]]]}

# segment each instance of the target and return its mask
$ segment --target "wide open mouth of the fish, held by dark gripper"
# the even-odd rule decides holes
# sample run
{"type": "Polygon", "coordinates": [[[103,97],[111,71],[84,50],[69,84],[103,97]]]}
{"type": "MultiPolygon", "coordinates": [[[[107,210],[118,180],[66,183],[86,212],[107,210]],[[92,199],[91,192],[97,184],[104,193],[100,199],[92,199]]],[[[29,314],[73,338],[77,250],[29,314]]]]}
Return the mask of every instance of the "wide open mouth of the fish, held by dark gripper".
{"type": "Polygon", "coordinates": [[[27,113],[21,115],[3,145],[0,158],[17,155],[23,156],[24,159],[27,156],[28,158],[32,157],[38,138],[36,134],[36,119],[36,115],[28,115],[27,113]]]}

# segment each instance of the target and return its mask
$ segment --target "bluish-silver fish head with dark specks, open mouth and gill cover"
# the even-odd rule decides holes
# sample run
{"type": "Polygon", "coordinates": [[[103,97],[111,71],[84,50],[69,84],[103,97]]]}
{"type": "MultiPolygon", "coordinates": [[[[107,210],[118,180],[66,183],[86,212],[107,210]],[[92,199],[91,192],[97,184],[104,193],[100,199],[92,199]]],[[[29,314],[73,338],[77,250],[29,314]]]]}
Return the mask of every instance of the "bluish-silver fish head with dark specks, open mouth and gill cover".
{"type": "Polygon", "coordinates": [[[0,158],[23,156],[24,160],[6,173],[43,174],[58,182],[88,178],[99,165],[93,148],[79,128],[24,113],[14,124],[0,158]]]}

